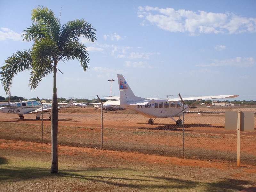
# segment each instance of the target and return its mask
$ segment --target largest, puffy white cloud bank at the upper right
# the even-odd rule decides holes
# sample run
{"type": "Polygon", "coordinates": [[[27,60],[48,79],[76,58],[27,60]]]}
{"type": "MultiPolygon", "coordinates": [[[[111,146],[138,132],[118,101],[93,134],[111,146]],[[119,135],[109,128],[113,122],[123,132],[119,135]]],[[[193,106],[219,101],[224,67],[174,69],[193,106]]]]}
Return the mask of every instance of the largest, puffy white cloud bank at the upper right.
{"type": "Polygon", "coordinates": [[[171,32],[188,32],[190,35],[200,33],[229,33],[256,32],[256,19],[238,16],[234,13],[212,13],[205,11],[193,12],[173,8],[138,7],[138,17],[156,24],[171,32]],[[156,13],[154,13],[156,12],[156,13]]]}

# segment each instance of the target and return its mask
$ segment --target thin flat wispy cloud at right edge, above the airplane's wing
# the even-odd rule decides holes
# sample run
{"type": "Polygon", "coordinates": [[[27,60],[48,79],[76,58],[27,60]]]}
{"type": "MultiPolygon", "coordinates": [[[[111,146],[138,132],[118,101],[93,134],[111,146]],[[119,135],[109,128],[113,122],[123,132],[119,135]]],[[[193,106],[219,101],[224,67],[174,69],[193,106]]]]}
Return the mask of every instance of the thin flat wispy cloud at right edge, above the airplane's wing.
{"type": "Polygon", "coordinates": [[[235,59],[227,60],[213,60],[211,64],[198,64],[196,66],[238,66],[238,67],[252,67],[255,64],[255,61],[252,57],[236,57],[235,59]]]}

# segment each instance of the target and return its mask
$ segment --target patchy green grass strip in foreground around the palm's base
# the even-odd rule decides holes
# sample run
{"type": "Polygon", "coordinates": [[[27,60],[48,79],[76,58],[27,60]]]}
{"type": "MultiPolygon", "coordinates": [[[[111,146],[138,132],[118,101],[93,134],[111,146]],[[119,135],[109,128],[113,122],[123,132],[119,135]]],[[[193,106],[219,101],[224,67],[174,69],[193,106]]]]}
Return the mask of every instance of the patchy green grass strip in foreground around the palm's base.
{"type": "MultiPolygon", "coordinates": [[[[74,158],[74,157],[73,157],[74,158]]],[[[81,162],[82,163],[82,162],[81,162]]],[[[58,174],[50,173],[50,162],[27,158],[0,158],[3,191],[238,191],[246,180],[195,180],[164,169],[132,167],[86,167],[64,160],[58,174]]]]}

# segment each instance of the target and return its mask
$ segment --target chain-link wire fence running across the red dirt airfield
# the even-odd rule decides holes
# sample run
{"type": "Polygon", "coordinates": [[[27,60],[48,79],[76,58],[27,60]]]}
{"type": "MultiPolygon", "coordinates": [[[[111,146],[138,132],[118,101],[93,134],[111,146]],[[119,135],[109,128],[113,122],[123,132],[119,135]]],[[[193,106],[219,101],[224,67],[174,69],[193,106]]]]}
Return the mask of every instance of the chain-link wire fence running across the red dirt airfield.
{"type": "MultiPolygon", "coordinates": [[[[162,113],[164,110],[167,106],[162,113]]],[[[224,129],[226,110],[255,112],[256,106],[200,106],[200,114],[198,108],[190,108],[184,121],[185,158],[236,161],[237,131],[224,129]]],[[[103,111],[103,149],[182,157],[182,124],[176,123],[180,117],[173,117],[176,122],[152,118],[153,124],[149,118],[128,109],[103,111]]],[[[41,121],[35,114],[20,119],[17,114],[0,113],[0,121],[1,139],[42,142],[41,121]]],[[[43,123],[44,143],[51,143],[48,114],[44,114],[43,123]]],[[[101,108],[61,108],[58,124],[60,145],[102,147],[101,108]]],[[[256,131],[241,132],[241,163],[256,164],[256,131]]]]}

